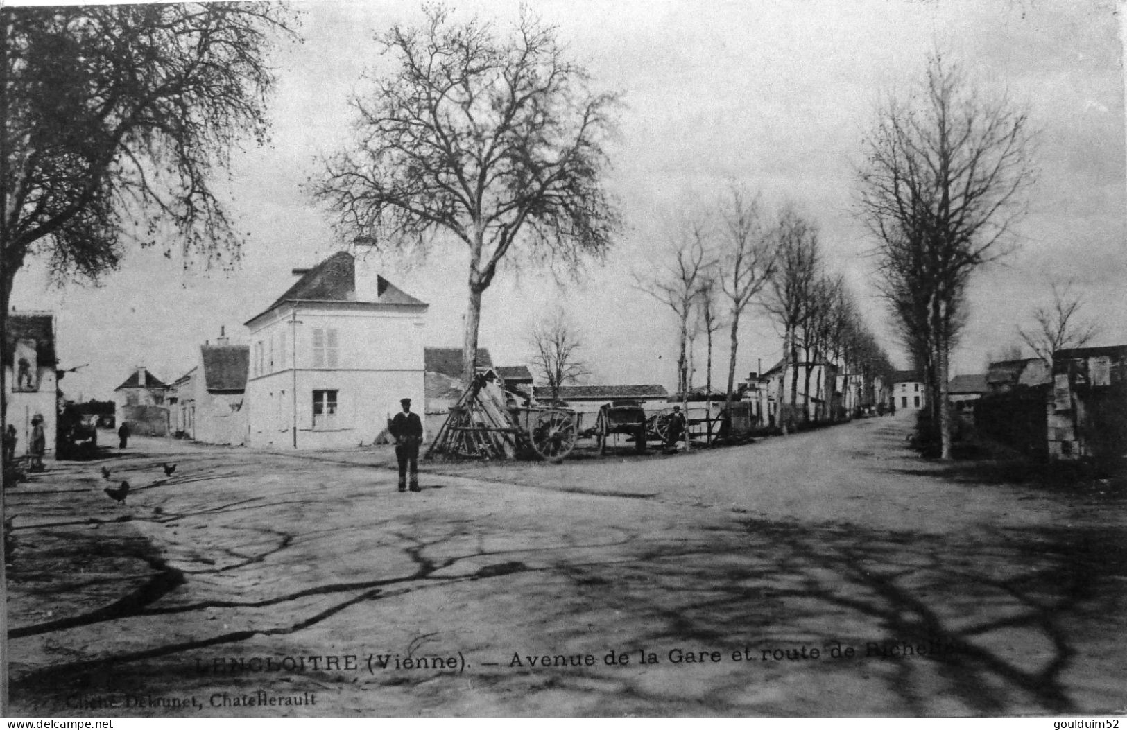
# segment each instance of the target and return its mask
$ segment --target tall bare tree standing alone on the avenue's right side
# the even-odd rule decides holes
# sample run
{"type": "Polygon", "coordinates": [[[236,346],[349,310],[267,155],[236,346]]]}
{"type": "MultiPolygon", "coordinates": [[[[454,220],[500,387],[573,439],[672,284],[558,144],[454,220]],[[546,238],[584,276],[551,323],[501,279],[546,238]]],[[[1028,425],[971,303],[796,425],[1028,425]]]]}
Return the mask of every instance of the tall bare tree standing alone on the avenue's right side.
{"type": "Polygon", "coordinates": [[[922,359],[941,456],[951,456],[948,362],[971,273],[1008,251],[1006,233],[1032,181],[1029,119],[986,98],[933,54],[919,92],[889,100],[866,141],[861,213],[879,241],[881,274],[922,359]]]}

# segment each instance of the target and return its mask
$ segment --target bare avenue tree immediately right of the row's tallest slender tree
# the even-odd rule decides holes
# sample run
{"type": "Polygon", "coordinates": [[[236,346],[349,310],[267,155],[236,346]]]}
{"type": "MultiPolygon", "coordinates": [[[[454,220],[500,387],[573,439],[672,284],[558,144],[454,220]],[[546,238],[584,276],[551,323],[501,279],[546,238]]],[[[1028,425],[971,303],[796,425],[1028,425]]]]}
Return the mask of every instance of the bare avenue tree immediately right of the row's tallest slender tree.
{"type": "Polygon", "coordinates": [[[783,370],[779,384],[779,425],[782,433],[795,426],[798,404],[799,338],[810,321],[810,302],[822,271],[818,232],[793,208],[784,208],[774,229],[778,261],[770,279],[763,309],[782,330],[783,370]],[[790,403],[786,403],[787,373],[791,373],[790,403]]]}

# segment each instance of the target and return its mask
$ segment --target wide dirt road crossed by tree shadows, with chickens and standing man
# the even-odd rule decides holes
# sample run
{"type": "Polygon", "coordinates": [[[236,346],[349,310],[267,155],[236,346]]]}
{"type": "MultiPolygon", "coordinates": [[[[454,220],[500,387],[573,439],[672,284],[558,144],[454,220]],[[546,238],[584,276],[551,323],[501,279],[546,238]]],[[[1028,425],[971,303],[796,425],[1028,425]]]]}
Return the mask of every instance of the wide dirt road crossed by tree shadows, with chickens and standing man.
{"type": "Polygon", "coordinates": [[[383,449],[59,463],[9,493],[14,709],[1122,712],[1119,493],[940,471],[906,434],[451,465],[417,495],[383,449]]]}

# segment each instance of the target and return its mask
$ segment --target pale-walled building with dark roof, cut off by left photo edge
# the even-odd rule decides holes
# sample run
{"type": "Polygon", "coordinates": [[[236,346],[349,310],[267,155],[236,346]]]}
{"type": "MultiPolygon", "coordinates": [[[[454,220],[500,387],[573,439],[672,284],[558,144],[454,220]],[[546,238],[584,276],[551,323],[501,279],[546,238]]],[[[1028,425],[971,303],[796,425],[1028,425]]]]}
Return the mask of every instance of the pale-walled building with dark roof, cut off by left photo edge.
{"type": "Polygon", "coordinates": [[[32,419],[43,417],[47,453],[55,449],[56,359],[55,317],[51,312],[8,314],[3,342],[7,368],[8,422],[16,427],[16,453],[32,445],[32,419]]]}

